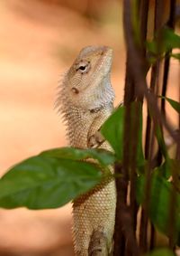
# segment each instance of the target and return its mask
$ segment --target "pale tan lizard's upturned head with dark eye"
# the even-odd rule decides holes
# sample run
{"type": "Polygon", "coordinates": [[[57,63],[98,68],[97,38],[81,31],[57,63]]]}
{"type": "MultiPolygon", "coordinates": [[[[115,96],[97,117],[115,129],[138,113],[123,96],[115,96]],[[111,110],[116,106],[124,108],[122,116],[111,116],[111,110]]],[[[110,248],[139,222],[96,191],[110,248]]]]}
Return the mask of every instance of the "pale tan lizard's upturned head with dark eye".
{"type": "Polygon", "coordinates": [[[114,94],[110,81],[111,67],[111,48],[83,48],[67,71],[64,85],[67,100],[82,109],[95,109],[112,102],[114,94]]]}

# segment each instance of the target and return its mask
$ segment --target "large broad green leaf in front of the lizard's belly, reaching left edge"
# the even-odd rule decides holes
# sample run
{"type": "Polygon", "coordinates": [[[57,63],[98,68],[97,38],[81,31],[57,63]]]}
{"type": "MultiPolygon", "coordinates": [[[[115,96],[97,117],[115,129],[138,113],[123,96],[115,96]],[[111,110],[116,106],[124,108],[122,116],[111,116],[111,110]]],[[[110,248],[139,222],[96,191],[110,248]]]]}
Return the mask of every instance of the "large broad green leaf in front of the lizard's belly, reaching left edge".
{"type": "Polygon", "coordinates": [[[0,207],[57,208],[93,188],[102,177],[92,163],[33,156],[0,179],[0,207]]]}

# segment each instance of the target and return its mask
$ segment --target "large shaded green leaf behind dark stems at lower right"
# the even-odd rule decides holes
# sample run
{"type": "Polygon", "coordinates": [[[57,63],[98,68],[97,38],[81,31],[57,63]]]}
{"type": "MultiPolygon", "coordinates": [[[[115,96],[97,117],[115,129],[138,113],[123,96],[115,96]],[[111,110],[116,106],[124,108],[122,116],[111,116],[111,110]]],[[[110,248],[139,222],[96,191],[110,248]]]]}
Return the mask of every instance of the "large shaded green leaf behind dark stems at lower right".
{"type": "MultiPolygon", "coordinates": [[[[140,175],[137,179],[137,201],[143,205],[145,202],[145,176],[140,175]]],[[[148,216],[157,230],[168,236],[169,233],[169,205],[172,193],[172,185],[166,179],[157,174],[151,177],[150,196],[148,203],[148,216]]],[[[180,194],[175,194],[175,240],[180,243],[180,194]]]]}

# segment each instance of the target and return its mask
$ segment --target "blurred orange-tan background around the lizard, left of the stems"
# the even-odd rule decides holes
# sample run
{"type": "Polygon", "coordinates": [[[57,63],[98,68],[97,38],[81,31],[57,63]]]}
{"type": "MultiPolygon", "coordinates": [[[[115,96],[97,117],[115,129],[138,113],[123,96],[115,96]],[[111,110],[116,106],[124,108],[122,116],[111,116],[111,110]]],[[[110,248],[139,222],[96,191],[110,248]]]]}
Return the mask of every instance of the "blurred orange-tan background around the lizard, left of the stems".
{"type": "MultiPolygon", "coordinates": [[[[53,103],[58,81],[87,45],[114,51],[112,85],[122,99],[121,1],[0,1],[0,175],[26,157],[67,145],[53,103]]],[[[73,255],[71,206],[0,209],[1,256],[73,255]]]]}

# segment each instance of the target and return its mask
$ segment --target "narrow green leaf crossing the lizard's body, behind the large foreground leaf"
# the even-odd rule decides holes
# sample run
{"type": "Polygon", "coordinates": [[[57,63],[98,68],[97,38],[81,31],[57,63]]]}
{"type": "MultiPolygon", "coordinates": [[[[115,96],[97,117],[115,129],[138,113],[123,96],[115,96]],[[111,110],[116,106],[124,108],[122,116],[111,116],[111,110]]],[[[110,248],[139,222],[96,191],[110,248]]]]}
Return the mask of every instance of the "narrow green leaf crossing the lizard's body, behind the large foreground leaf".
{"type": "Polygon", "coordinates": [[[102,166],[109,166],[115,162],[112,152],[105,149],[78,149],[75,147],[53,148],[40,153],[40,156],[50,156],[69,160],[85,160],[94,158],[102,166]]]}

